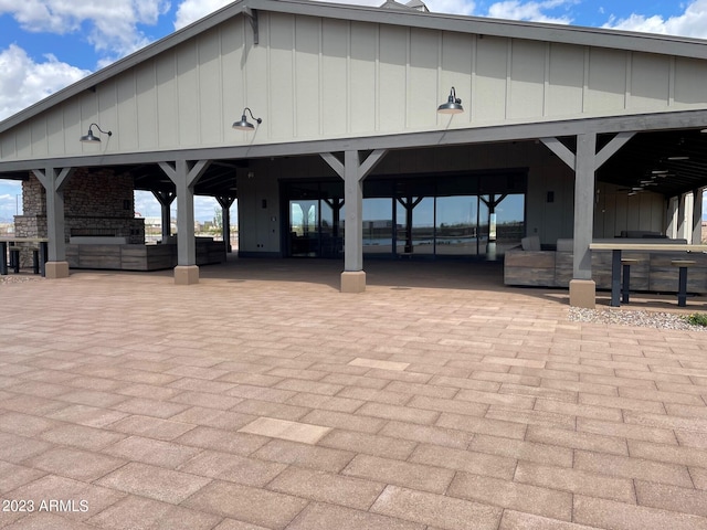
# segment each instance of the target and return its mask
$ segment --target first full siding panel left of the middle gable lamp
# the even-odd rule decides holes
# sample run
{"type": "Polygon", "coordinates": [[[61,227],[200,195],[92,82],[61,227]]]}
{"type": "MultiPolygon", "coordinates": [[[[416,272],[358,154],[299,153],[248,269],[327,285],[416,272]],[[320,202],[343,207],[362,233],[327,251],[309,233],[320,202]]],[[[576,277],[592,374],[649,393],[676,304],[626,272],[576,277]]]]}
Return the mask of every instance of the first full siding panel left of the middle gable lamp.
{"type": "Polygon", "coordinates": [[[221,99],[221,40],[218,30],[199,39],[199,127],[203,145],[223,141],[225,119],[221,99]]]}

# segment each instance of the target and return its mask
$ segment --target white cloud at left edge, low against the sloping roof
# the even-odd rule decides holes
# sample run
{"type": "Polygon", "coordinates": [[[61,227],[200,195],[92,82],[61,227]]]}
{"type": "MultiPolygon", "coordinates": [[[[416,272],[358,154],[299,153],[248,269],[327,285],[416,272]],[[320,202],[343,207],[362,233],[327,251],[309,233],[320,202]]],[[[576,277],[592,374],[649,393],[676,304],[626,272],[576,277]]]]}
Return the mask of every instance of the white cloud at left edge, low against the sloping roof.
{"type": "Polygon", "coordinates": [[[36,63],[15,44],[0,52],[0,119],[13,115],[91,72],[62,63],[53,55],[36,63]]]}

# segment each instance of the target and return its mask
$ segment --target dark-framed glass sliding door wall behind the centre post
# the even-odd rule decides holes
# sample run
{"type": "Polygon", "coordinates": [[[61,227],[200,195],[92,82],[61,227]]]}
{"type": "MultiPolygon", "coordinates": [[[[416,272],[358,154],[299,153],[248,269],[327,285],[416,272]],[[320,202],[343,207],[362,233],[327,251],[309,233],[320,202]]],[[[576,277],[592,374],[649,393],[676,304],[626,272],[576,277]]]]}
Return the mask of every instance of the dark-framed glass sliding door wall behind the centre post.
{"type": "MultiPolygon", "coordinates": [[[[286,253],[342,257],[344,183],[323,180],[284,186],[286,253]]],[[[494,259],[525,235],[526,187],[527,178],[518,171],[367,179],[363,253],[494,259]]]]}

